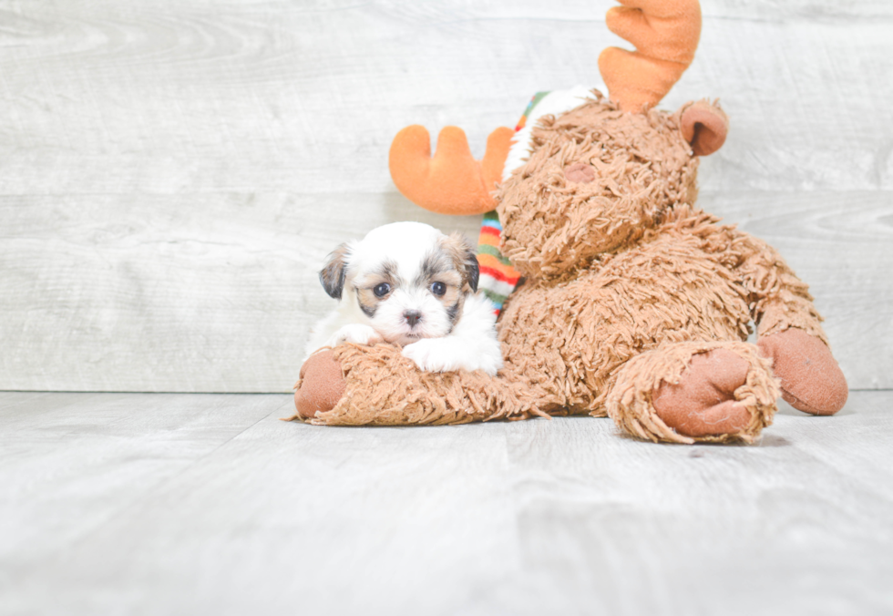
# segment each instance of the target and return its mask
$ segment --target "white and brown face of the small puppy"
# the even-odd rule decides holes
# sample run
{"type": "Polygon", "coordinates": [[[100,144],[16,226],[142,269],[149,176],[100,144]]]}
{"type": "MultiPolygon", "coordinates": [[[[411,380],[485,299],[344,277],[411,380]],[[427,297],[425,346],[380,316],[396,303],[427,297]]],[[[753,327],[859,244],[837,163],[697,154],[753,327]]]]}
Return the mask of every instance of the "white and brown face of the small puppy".
{"type": "Polygon", "coordinates": [[[354,303],[359,320],[395,344],[449,334],[477,278],[475,249],[461,234],[419,222],[385,225],[339,247],[320,272],[329,295],[354,303]]]}

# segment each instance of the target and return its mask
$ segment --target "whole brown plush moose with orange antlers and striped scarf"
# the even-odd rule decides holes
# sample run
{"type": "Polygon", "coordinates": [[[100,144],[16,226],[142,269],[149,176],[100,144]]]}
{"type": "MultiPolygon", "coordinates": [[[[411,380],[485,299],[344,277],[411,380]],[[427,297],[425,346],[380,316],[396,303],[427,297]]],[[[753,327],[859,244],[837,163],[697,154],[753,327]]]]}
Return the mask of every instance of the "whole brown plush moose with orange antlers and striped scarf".
{"type": "Polygon", "coordinates": [[[750,443],[778,395],[815,415],[844,406],[847,382],[806,284],[764,241],[695,204],[699,157],[723,145],[724,112],[706,100],[655,108],[693,60],[697,0],[620,1],[607,24],[636,51],[602,52],[610,98],[541,93],[516,131],[489,136],[480,161],[455,127],[433,158],[420,126],[391,147],[395,185],[417,205],[495,210],[478,261],[501,309],[503,369],[424,372],[395,345],[343,344],[304,363],[294,418],[395,426],[589,414],[653,441],[750,443]],[[751,323],[756,344],[746,342],[751,323]]]}

